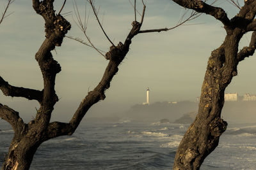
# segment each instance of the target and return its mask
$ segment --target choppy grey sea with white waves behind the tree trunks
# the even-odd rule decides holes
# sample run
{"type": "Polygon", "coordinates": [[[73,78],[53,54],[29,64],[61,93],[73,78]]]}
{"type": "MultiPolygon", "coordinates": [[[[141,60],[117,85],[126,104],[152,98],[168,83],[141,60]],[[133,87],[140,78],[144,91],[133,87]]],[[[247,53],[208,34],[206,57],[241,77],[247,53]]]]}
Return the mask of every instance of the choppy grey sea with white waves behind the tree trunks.
{"type": "MultiPolygon", "coordinates": [[[[31,170],[172,169],[177,146],[188,124],[88,120],[72,136],[43,143],[31,170]]],[[[13,137],[0,120],[0,166],[13,137]]],[[[200,169],[256,169],[256,124],[229,123],[219,146],[200,169]]]]}

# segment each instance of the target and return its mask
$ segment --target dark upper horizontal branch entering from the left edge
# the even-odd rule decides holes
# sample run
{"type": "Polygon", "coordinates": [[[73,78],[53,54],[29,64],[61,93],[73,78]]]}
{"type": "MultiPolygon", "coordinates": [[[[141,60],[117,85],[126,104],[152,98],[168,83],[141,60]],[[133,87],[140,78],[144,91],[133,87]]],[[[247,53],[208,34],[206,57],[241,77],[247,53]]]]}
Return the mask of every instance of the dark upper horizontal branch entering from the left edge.
{"type": "Polygon", "coordinates": [[[42,98],[43,98],[42,91],[12,86],[7,81],[4,81],[1,76],[0,76],[0,89],[2,90],[5,96],[25,97],[26,99],[29,99],[29,100],[36,100],[39,103],[42,101],[42,98]]]}

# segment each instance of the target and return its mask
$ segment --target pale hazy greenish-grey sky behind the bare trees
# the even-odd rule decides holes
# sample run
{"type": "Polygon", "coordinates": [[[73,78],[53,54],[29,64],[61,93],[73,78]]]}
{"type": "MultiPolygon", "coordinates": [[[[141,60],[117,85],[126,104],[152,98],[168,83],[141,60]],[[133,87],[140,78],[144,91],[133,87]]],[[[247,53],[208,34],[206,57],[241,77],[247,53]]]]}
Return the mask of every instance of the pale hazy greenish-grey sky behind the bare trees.
{"type": "MultiPolygon", "coordinates": [[[[82,18],[85,8],[87,16],[89,13],[88,36],[97,48],[107,52],[111,44],[100,30],[89,4],[85,6],[81,0],[76,2],[82,18]]],[[[56,12],[60,10],[62,3],[63,1],[56,1],[56,12]]],[[[145,3],[147,9],[141,30],[173,27],[185,11],[170,0],[147,0],[145,3]]],[[[1,11],[4,4],[5,1],[0,1],[1,11]]],[[[215,5],[226,10],[229,18],[238,13],[238,9],[227,1],[219,1],[215,5]]],[[[99,17],[109,38],[115,44],[124,42],[134,20],[134,9],[129,1],[97,0],[95,6],[100,6],[99,17]]],[[[143,7],[140,1],[137,7],[141,12],[143,7]]],[[[12,11],[14,13],[0,25],[0,75],[11,85],[42,90],[42,74],[35,60],[35,53],[45,38],[44,20],[35,13],[31,1],[15,1],[9,9],[9,12],[12,11]]],[[[67,35],[85,39],[75,23],[72,1],[67,1],[61,13],[70,11],[72,13],[66,18],[72,28],[67,35]]],[[[137,14],[137,18],[140,20],[140,15],[137,14]]],[[[195,101],[200,96],[211,51],[218,48],[224,38],[223,25],[209,15],[201,15],[168,32],[138,34],[132,39],[130,50],[119,66],[118,74],[106,91],[106,99],[92,107],[88,112],[89,117],[93,117],[93,114],[117,113],[145,102],[147,87],[150,89],[151,103],[195,101]]],[[[249,43],[250,33],[243,37],[239,48],[249,43]]],[[[56,92],[60,101],[55,106],[53,119],[68,120],[88,90],[93,90],[99,83],[108,60],[93,48],[68,38],[52,54],[62,69],[56,77],[56,92]]],[[[239,64],[238,75],[226,92],[237,92],[240,96],[246,92],[256,94],[255,61],[253,55],[239,64]]],[[[35,108],[39,108],[35,101],[6,97],[2,93],[0,103],[19,111],[27,119],[35,117],[35,108]]]]}

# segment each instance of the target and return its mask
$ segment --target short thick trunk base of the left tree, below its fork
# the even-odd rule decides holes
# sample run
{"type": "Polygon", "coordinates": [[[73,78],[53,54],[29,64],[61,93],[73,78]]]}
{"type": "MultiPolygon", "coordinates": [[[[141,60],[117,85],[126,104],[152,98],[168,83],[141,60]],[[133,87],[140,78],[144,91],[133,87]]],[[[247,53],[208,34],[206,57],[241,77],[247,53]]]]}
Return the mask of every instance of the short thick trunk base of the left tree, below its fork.
{"type": "Polygon", "coordinates": [[[35,139],[24,137],[17,140],[13,138],[8,155],[3,162],[2,170],[29,169],[38,146],[39,143],[35,142],[35,139]]]}

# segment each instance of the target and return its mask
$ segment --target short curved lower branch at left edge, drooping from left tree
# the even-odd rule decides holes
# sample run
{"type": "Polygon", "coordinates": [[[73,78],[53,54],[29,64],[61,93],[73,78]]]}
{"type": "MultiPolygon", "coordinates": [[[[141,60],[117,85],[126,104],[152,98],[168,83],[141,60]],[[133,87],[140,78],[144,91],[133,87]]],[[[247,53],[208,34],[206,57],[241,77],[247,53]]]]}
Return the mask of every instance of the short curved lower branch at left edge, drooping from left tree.
{"type": "Polygon", "coordinates": [[[12,110],[6,105],[0,103],[0,117],[6,120],[12,125],[15,134],[20,134],[26,125],[24,124],[22,118],[19,117],[19,113],[12,110]]]}

